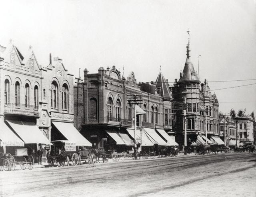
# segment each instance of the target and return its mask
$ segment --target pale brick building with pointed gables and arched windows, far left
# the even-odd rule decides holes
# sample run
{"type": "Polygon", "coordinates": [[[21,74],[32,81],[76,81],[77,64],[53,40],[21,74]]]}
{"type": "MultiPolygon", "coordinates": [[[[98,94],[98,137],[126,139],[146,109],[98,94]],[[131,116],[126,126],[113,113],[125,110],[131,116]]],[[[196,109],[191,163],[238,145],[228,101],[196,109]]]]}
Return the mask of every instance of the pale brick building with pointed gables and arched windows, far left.
{"type": "Polygon", "coordinates": [[[73,123],[73,75],[60,58],[42,67],[31,46],[23,56],[10,40],[0,46],[0,78],[0,149],[42,147],[45,156],[61,132],[53,122],[73,123]]]}

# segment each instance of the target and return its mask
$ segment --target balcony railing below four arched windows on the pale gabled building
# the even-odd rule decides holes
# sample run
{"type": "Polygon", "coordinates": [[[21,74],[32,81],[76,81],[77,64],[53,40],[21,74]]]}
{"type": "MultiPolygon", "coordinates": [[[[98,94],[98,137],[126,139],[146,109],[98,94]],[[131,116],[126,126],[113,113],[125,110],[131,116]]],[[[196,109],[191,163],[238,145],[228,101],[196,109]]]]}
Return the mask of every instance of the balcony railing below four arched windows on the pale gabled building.
{"type": "Polygon", "coordinates": [[[4,113],[18,113],[24,115],[39,115],[38,106],[20,103],[5,103],[4,113]]]}

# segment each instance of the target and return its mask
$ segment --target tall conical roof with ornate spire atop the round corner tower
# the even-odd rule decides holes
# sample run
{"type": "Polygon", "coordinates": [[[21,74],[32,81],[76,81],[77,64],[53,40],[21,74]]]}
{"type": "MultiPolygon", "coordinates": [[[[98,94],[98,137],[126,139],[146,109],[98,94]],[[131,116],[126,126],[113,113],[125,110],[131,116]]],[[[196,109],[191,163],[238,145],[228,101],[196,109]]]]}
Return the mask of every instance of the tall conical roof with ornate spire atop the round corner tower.
{"type": "Polygon", "coordinates": [[[178,81],[178,83],[180,83],[180,82],[198,82],[198,83],[200,83],[200,80],[197,76],[197,73],[194,70],[194,66],[193,66],[192,62],[190,61],[189,45],[190,45],[190,41],[188,39],[188,45],[186,46],[186,48],[187,48],[187,59],[186,59],[186,62],[185,62],[183,72],[180,75],[180,80],[178,81]]]}

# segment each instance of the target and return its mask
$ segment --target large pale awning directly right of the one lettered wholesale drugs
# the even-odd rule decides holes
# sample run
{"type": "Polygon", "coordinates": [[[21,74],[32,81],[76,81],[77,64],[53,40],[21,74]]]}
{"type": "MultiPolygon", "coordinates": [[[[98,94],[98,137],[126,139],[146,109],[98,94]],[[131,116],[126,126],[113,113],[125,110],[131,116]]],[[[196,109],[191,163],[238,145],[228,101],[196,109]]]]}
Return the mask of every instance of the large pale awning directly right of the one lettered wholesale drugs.
{"type": "Polygon", "coordinates": [[[53,145],[39,130],[34,122],[7,120],[12,129],[25,143],[41,143],[53,145]]]}

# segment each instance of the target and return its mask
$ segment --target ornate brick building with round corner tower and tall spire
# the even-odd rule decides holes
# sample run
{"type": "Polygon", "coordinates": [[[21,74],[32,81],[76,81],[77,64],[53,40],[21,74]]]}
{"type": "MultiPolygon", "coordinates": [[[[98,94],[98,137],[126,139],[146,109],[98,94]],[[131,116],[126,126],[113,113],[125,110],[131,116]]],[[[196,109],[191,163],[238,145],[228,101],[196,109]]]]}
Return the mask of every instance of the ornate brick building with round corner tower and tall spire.
{"type": "Polygon", "coordinates": [[[219,137],[218,99],[211,94],[207,80],[201,83],[190,60],[190,41],[188,40],[186,62],[180,79],[175,79],[172,87],[176,113],[176,141],[184,144],[185,121],[183,110],[186,110],[187,144],[196,141],[198,135],[208,138],[219,137]]]}

